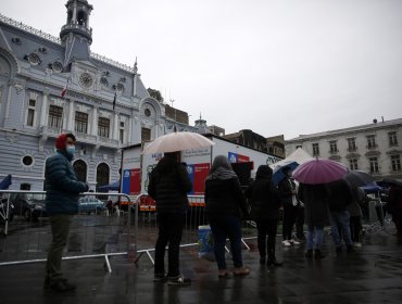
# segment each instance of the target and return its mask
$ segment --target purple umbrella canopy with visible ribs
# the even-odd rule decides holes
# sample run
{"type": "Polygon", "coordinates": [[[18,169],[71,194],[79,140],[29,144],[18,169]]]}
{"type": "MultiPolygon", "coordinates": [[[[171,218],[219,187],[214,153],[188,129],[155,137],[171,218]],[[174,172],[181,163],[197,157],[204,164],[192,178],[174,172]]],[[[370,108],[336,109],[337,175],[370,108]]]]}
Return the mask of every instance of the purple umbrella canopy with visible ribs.
{"type": "Polygon", "coordinates": [[[347,173],[348,168],[341,163],[316,159],[297,167],[293,178],[303,183],[317,185],[341,179],[347,173]]]}

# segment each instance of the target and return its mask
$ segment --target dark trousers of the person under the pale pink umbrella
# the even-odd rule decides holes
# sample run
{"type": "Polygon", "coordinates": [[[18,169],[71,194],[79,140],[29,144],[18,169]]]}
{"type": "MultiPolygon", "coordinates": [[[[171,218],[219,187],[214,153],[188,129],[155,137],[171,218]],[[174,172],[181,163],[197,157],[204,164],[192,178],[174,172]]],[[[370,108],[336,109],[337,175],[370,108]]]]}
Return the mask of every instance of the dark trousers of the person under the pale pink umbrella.
{"type": "Polygon", "coordinates": [[[168,244],[167,276],[177,277],[180,275],[179,249],[186,215],[176,213],[159,213],[156,220],[159,224],[159,236],[155,244],[154,274],[165,274],[165,248],[168,244]]]}

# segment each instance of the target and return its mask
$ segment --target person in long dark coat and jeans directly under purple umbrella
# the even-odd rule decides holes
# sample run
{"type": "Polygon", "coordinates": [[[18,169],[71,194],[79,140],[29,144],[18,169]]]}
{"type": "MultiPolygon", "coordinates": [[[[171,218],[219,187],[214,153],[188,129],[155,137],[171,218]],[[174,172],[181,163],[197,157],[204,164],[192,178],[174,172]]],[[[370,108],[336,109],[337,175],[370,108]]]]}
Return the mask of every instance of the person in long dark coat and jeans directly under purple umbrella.
{"type": "Polygon", "coordinates": [[[305,224],[307,226],[306,258],[324,258],[322,252],[324,227],[329,225],[327,200],[329,190],[325,185],[299,186],[299,200],[304,204],[305,224]]]}

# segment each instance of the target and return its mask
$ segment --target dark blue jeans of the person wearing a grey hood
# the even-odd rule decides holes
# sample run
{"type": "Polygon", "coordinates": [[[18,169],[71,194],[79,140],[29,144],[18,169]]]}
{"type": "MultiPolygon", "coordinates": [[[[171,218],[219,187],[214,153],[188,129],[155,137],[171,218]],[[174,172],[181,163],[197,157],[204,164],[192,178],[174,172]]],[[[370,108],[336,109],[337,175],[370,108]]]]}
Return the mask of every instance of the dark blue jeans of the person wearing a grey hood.
{"type": "Polygon", "coordinates": [[[242,267],[241,258],[241,219],[234,215],[206,215],[212,236],[214,237],[214,254],[219,270],[226,269],[226,238],[230,240],[230,252],[235,268],[242,267]]]}

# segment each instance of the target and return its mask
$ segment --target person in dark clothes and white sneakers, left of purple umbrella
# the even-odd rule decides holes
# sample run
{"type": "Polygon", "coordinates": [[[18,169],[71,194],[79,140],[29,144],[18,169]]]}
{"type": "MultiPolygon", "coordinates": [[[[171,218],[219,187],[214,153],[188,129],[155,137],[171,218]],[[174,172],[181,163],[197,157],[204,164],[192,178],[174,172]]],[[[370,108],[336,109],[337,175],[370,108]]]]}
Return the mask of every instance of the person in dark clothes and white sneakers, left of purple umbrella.
{"type": "Polygon", "coordinates": [[[292,231],[299,208],[296,182],[291,178],[292,170],[290,167],[284,167],[282,172],[285,178],[278,185],[279,195],[284,206],[282,244],[285,246],[298,245],[300,242],[292,239],[292,231]]]}

